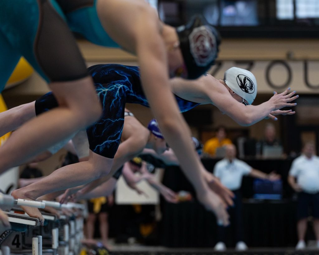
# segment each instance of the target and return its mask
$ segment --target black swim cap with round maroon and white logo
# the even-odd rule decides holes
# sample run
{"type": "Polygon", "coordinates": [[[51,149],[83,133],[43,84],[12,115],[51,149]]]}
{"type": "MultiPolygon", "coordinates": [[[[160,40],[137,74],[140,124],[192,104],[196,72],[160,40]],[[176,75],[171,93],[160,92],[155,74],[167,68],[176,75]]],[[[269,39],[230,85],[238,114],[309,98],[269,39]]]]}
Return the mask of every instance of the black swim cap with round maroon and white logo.
{"type": "Polygon", "coordinates": [[[176,28],[188,79],[197,79],[215,62],[220,36],[202,15],[194,16],[188,24],[176,28]]]}

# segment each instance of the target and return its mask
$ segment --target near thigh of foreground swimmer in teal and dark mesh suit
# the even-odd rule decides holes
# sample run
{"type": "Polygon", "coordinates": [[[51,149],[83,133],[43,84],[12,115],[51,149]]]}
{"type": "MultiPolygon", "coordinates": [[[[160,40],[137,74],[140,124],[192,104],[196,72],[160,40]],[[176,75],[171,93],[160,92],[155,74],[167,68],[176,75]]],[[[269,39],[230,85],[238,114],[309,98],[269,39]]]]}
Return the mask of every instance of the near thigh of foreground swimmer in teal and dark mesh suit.
{"type": "Polygon", "coordinates": [[[48,0],[2,0],[1,30],[47,82],[86,77],[76,40],[56,8],[48,0]]]}

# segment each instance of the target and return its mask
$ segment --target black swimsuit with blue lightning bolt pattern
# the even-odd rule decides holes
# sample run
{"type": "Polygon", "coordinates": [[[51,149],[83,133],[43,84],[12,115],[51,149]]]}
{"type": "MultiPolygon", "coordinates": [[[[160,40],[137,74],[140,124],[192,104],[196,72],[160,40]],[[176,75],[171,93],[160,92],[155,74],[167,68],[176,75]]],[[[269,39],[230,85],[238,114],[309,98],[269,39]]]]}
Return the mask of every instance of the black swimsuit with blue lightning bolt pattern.
{"type": "MultiPolygon", "coordinates": [[[[100,120],[86,129],[90,149],[101,156],[114,158],[121,141],[125,104],[149,107],[141,85],[139,68],[107,64],[95,65],[88,70],[103,106],[100,120]]],[[[199,105],[176,95],[175,98],[181,112],[186,112],[199,105]]],[[[57,102],[53,94],[49,92],[36,101],[36,114],[56,106],[57,102]]]]}

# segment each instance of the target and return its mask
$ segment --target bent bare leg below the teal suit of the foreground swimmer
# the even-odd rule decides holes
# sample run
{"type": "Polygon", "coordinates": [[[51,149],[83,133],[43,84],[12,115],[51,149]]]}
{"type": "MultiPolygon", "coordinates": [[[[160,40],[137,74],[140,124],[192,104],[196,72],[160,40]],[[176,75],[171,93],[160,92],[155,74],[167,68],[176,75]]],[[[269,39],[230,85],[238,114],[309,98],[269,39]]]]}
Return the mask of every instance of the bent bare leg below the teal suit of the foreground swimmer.
{"type": "Polygon", "coordinates": [[[91,77],[51,83],[59,107],[25,123],[0,148],[0,173],[96,121],[101,106],[91,77]]]}

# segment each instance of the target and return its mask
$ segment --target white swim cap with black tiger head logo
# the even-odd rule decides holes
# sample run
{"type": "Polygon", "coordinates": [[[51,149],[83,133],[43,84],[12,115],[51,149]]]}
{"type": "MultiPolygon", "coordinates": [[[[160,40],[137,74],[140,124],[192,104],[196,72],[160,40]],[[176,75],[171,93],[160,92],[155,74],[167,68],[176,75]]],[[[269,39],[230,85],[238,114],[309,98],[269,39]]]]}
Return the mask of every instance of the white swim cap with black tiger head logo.
{"type": "Polygon", "coordinates": [[[251,72],[232,67],[225,72],[224,81],[232,91],[244,98],[249,105],[254,102],[257,95],[257,81],[251,72]]]}

